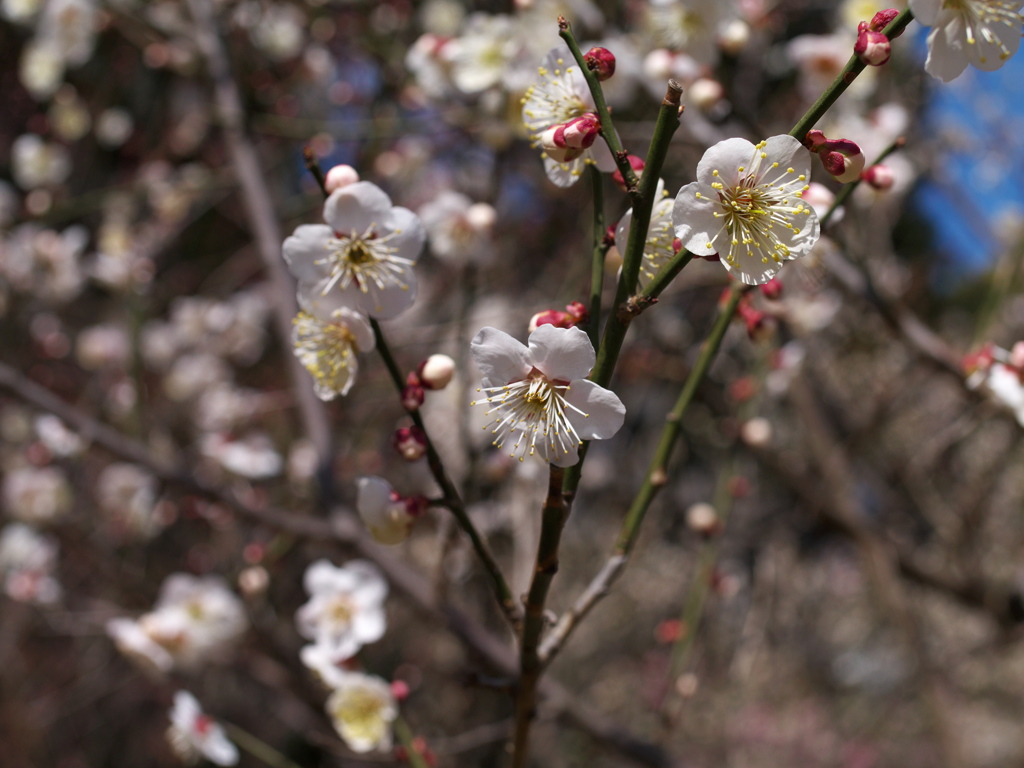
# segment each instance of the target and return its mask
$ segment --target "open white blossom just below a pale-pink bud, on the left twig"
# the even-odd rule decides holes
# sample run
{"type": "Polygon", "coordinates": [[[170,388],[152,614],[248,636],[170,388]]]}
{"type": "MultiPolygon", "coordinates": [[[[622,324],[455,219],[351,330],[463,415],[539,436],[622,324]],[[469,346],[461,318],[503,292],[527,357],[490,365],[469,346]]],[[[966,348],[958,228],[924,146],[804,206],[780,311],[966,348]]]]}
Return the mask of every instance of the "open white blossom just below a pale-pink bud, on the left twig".
{"type": "Polygon", "coordinates": [[[376,184],[357,181],[331,194],[326,224],[302,224],[284,254],[299,295],[330,314],[343,306],[390,318],[416,298],[413,265],[423,249],[420,219],[376,184]]]}

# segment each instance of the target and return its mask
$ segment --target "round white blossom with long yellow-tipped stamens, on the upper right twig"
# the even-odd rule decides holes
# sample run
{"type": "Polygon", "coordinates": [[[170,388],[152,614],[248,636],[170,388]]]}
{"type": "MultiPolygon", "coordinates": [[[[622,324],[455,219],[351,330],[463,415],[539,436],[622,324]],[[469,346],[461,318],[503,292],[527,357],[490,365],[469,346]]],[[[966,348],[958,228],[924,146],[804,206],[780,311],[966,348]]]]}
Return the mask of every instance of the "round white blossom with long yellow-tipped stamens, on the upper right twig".
{"type": "Polygon", "coordinates": [[[818,239],[818,216],[802,199],[810,175],[811,155],[793,136],[720,141],[676,196],[676,237],[693,254],[719,254],[743,283],[767,283],[818,239]]]}

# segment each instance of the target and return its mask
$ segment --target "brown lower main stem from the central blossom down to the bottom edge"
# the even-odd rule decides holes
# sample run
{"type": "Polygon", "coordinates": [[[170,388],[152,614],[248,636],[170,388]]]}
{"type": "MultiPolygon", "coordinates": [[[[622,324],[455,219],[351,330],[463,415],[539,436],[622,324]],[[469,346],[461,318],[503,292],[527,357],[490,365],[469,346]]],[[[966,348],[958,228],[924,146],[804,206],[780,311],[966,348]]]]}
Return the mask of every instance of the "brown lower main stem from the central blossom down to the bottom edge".
{"type": "Polygon", "coordinates": [[[544,605],[551,582],[558,572],[558,545],[565,526],[566,506],[562,498],[565,470],[551,465],[548,497],[541,512],[541,541],[537,547],[534,579],[526,593],[526,610],[519,650],[519,684],[516,689],[516,726],[512,766],[525,768],[529,748],[529,726],[534,721],[537,686],[544,670],[538,647],[544,630],[544,605]]]}

